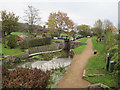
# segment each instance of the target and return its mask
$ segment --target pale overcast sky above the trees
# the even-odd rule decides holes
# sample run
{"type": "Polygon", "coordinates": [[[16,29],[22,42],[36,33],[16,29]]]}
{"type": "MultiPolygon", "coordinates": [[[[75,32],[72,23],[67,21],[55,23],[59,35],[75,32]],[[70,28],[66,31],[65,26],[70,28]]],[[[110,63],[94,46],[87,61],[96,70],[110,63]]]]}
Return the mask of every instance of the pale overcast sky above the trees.
{"type": "Polygon", "coordinates": [[[39,9],[40,25],[47,22],[51,12],[65,12],[76,25],[93,26],[95,21],[109,19],[118,26],[119,0],[0,0],[0,11],[14,12],[23,21],[24,11],[28,5],[39,9]]]}

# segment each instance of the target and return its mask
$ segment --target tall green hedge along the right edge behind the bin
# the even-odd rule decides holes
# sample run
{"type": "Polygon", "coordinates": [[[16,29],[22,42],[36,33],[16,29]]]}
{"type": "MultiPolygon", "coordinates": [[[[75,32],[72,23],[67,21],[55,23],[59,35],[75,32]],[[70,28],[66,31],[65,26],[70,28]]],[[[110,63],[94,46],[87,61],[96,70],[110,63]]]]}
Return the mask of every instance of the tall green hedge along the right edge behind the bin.
{"type": "Polygon", "coordinates": [[[107,52],[110,53],[110,60],[115,61],[114,72],[113,75],[118,82],[118,86],[120,86],[120,60],[119,60],[119,46],[118,46],[118,38],[116,35],[112,35],[112,33],[108,32],[105,36],[105,47],[108,47],[109,50],[107,52]],[[109,38],[108,38],[109,37],[109,38]],[[114,38],[114,39],[113,39],[114,38]],[[113,40],[112,40],[113,39],[113,40]]]}

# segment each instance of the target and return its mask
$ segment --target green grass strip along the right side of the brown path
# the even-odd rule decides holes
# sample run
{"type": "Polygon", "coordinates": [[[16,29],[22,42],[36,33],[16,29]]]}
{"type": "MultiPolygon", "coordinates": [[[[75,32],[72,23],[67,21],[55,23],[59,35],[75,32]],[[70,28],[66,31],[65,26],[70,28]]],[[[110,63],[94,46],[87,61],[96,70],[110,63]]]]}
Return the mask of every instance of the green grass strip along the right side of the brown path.
{"type": "Polygon", "coordinates": [[[104,54],[104,44],[100,42],[96,44],[96,39],[92,39],[94,49],[99,51],[99,55],[89,59],[86,66],[86,75],[90,74],[104,74],[104,76],[87,77],[88,81],[92,83],[103,83],[109,87],[115,87],[117,82],[114,80],[112,73],[106,71],[106,61],[104,54]]]}

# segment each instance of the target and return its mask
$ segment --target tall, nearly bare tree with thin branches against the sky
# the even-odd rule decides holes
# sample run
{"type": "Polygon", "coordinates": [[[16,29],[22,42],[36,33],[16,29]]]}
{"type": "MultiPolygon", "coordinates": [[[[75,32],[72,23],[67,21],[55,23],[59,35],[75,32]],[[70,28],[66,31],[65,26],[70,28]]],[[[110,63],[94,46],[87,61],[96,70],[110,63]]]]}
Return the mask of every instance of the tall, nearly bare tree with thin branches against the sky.
{"type": "Polygon", "coordinates": [[[34,25],[39,24],[41,18],[39,17],[39,10],[33,6],[28,6],[28,9],[25,10],[24,20],[29,25],[29,32],[31,33],[34,25]]]}

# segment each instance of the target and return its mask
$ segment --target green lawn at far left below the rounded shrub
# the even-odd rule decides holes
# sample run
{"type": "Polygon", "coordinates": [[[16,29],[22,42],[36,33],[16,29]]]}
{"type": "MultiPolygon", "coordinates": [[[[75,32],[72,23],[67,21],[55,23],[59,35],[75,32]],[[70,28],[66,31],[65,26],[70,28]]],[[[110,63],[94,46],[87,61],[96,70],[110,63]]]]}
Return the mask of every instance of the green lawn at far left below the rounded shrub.
{"type": "Polygon", "coordinates": [[[15,48],[15,49],[4,48],[4,45],[2,44],[0,44],[0,52],[3,53],[4,55],[10,55],[10,56],[23,53],[20,48],[15,48]]]}

